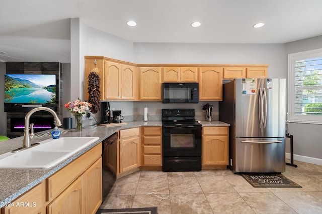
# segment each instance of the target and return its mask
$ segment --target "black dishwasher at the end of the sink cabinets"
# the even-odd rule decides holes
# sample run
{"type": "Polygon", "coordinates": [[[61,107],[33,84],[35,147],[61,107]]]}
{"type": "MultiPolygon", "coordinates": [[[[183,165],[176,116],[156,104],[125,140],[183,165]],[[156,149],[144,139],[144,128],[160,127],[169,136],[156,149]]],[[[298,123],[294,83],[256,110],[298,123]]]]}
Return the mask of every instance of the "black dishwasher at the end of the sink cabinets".
{"type": "Polygon", "coordinates": [[[116,180],[118,133],[103,140],[103,201],[116,180]]]}

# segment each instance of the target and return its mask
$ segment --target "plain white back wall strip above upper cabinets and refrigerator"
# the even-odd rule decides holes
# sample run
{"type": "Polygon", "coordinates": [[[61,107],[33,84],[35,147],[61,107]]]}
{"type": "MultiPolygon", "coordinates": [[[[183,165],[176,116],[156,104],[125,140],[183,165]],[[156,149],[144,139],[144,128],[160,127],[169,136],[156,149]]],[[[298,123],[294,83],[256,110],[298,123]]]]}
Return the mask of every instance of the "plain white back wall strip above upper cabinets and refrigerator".
{"type": "Polygon", "coordinates": [[[269,64],[270,78],[286,78],[283,44],[134,43],[137,64],[269,64]]]}

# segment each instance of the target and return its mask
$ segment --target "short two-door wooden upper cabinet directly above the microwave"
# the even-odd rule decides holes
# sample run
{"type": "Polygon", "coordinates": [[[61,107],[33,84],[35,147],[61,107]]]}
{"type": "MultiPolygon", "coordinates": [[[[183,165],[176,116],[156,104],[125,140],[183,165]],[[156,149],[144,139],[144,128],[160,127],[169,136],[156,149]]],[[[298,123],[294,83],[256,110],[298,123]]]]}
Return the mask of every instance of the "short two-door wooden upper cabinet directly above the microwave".
{"type": "Polygon", "coordinates": [[[198,82],[198,68],[163,67],[163,82],[198,82]]]}

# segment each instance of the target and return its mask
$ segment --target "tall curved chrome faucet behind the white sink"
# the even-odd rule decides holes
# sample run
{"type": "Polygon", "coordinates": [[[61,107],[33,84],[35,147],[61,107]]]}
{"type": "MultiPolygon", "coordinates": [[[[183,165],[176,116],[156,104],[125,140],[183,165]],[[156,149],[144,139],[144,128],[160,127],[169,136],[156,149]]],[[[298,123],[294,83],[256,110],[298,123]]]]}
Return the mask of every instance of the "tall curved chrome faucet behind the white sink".
{"type": "Polygon", "coordinates": [[[35,136],[34,124],[31,123],[30,129],[29,129],[29,120],[30,120],[31,115],[37,111],[48,111],[49,113],[52,114],[52,116],[54,116],[56,126],[61,126],[61,121],[59,120],[59,118],[54,110],[47,108],[47,107],[37,107],[37,108],[32,109],[31,111],[29,111],[27,113],[27,115],[25,117],[25,133],[24,133],[24,138],[22,140],[22,148],[23,149],[30,147],[31,140],[35,136]],[[30,133],[29,133],[29,130],[31,130],[30,133]]]}

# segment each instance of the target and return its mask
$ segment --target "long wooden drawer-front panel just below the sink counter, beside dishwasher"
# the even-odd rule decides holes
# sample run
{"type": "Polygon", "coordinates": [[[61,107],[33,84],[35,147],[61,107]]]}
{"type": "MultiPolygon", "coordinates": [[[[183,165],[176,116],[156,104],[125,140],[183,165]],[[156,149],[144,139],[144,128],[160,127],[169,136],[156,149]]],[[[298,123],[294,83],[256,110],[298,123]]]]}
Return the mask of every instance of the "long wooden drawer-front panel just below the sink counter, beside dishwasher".
{"type": "Polygon", "coordinates": [[[102,145],[99,143],[91,150],[78,157],[55,174],[46,178],[46,201],[57,197],[69,184],[102,156],[102,145]]]}

